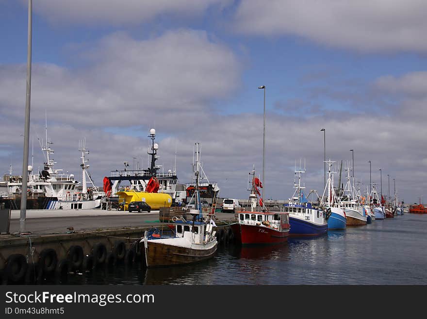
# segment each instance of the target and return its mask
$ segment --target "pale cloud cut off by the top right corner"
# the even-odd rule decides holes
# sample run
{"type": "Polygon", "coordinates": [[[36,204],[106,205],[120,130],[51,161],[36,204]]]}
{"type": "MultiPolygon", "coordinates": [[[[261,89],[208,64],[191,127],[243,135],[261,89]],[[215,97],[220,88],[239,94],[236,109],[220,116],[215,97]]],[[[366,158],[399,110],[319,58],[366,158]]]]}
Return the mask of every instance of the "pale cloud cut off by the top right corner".
{"type": "Polygon", "coordinates": [[[262,36],[297,35],[358,51],[427,51],[424,0],[241,1],[236,29],[262,36]]]}

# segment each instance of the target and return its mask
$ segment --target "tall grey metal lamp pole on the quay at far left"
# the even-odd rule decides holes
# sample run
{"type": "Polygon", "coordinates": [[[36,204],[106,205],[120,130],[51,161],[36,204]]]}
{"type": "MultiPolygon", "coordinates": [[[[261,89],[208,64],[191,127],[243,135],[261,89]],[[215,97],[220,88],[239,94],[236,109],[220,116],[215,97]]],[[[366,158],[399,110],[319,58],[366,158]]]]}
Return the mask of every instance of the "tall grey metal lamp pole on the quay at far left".
{"type": "Polygon", "coordinates": [[[25,231],[27,218],[28,149],[30,144],[30,101],[31,101],[31,44],[33,30],[33,0],[28,0],[28,44],[27,44],[27,95],[25,99],[24,156],[22,161],[22,194],[19,231],[25,231]]]}

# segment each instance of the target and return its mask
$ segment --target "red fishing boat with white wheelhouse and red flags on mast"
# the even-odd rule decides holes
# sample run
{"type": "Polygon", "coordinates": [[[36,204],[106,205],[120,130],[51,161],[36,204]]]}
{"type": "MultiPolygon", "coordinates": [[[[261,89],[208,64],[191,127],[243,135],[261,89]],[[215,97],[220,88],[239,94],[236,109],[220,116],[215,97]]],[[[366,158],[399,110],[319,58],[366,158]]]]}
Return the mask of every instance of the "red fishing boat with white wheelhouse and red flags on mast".
{"type": "Polygon", "coordinates": [[[258,187],[263,187],[252,170],[252,189],[249,195],[250,208],[237,213],[237,222],[231,225],[238,243],[249,244],[276,244],[288,240],[289,213],[268,212],[263,199],[259,198],[258,187]]]}

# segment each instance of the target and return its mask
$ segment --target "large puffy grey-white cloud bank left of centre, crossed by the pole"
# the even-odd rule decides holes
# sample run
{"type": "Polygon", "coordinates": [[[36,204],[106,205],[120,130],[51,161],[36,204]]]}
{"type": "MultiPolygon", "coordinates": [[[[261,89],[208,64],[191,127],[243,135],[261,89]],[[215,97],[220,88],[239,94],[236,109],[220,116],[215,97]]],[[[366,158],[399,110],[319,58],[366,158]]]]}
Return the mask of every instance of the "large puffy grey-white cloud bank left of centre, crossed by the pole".
{"type": "MultiPolygon", "coordinates": [[[[80,68],[33,66],[32,119],[44,118],[46,109],[55,121],[76,125],[129,127],[167,119],[176,127],[240,83],[234,53],[192,30],[140,41],[112,34],[82,59],[80,68]]],[[[0,68],[0,114],[19,116],[26,68],[0,68]]]]}

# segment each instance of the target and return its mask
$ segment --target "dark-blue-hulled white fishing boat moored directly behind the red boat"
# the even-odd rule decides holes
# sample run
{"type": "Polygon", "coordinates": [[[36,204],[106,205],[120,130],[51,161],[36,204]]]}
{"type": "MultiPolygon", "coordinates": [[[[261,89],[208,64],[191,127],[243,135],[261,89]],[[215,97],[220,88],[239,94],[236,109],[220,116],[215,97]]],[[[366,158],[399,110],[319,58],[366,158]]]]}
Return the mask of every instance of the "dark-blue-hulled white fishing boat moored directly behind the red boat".
{"type": "Polygon", "coordinates": [[[328,232],[328,212],[320,208],[315,208],[308,202],[301,186],[301,168],[298,173],[298,185],[294,182],[296,188],[294,195],[289,200],[289,204],[284,204],[285,212],[289,213],[289,224],[291,236],[317,236],[328,232]]]}

